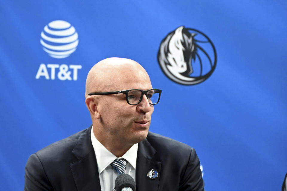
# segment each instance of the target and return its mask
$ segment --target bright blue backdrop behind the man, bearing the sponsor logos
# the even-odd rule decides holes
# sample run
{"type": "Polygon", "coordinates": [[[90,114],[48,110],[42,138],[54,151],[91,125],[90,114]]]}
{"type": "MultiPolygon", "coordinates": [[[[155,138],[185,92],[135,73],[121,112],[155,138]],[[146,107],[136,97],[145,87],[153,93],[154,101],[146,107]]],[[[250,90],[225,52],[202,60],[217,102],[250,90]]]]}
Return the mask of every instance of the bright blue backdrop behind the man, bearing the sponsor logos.
{"type": "Polygon", "coordinates": [[[287,1],[1,0],[0,18],[1,190],[23,190],[30,154],[90,126],[86,75],[108,57],[138,61],[163,90],[150,130],[196,149],[205,190],[281,190],[287,1]],[[44,29],[56,20],[71,33],[44,29]],[[161,41],[180,26],[204,33],[217,52],[214,72],[196,85],[175,83],[158,63],[161,41]],[[60,47],[51,42],[59,34],[74,36],[60,47]],[[55,49],[67,57],[52,57],[55,49]]]}

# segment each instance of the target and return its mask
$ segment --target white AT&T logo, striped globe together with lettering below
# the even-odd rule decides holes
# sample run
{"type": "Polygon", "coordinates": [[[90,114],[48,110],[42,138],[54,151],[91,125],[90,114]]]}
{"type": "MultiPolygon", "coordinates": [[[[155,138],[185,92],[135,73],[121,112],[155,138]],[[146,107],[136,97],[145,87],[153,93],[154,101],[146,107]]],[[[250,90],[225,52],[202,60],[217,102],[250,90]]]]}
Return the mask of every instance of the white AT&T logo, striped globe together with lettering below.
{"type": "MultiPolygon", "coordinates": [[[[76,29],[67,21],[56,20],[50,22],[41,32],[40,43],[43,50],[53,58],[70,56],[79,44],[76,29]]],[[[74,80],[78,79],[78,70],[81,65],[67,64],[40,64],[36,79],[41,76],[46,80],[74,80]]]]}

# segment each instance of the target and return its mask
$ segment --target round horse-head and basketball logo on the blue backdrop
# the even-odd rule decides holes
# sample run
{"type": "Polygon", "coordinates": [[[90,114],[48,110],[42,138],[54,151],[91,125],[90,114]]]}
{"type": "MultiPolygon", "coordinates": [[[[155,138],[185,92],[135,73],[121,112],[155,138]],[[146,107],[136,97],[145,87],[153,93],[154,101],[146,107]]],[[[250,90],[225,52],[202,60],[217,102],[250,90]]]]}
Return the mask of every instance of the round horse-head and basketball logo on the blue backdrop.
{"type": "Polygon", "coordinates": [[[216,50],[198,30],[178,27],[161,41],[158,63],[164,74],[178,84],[203,82],[216,67],[216,50]]]}

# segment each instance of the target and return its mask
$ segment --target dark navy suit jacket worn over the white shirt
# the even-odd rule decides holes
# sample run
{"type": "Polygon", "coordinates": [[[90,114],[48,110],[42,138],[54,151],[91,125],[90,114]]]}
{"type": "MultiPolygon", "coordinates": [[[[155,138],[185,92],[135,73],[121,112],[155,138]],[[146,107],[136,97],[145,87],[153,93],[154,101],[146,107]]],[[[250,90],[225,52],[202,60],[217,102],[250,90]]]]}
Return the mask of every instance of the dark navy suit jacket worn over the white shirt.
{"type": "MultiPolygon", "coordinates": [[[[91,127],[32,154],[25,167],[24,190],[101,190],[91,127]]],[[[149,132],[138,144],[137,191],[203,191],[199,159],[193,148],[149,132]],[[149,179],[154,169],[158,177],[149,179]]]]}

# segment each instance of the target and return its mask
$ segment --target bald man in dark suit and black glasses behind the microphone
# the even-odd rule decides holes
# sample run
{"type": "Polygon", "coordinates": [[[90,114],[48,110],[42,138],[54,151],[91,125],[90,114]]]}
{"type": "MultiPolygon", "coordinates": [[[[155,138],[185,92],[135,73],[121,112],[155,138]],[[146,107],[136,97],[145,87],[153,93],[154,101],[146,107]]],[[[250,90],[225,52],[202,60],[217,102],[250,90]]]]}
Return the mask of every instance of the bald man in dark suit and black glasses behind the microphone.
{"type": "Polygon", "coordinates": [[[24,190],[112,191],[115,160],[125,161],[138,191],[204,190],[195,150],[149,132],[160,93],[135,61],[107,58],[94,65],[85,94],[91,127],[32,154],[24,190]]]}

